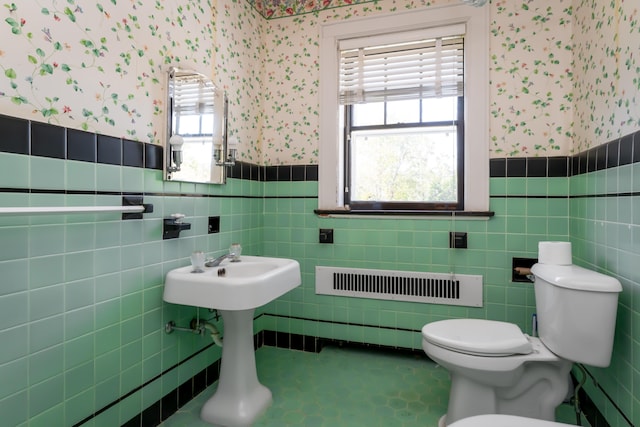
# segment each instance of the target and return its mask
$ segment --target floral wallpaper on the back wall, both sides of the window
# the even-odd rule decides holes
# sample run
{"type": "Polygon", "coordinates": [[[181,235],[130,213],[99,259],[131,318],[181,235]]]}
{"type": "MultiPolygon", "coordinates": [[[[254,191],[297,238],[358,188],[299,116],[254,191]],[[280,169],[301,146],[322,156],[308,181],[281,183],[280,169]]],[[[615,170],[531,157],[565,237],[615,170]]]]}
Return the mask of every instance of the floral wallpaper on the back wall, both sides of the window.
{"type": "MultiPolygon", "coordinates": [[[[458,2],[365,2],[267,21],[266,163],[316,162],[320,24],[448,3],[458,2]]],[[[265,4],[256,8],[265,10],[265,4]]],[[[496,1],[491,8],[491,155],[568,154],[571,1],[496,1]]]]}

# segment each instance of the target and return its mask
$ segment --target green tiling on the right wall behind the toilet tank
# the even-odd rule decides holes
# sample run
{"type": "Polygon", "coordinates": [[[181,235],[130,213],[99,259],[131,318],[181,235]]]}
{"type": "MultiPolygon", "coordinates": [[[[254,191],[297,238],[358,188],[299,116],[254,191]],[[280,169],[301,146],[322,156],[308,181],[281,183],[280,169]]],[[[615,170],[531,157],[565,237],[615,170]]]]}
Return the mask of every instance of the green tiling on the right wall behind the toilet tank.
{"type": "Polygon", "coordinates": [[[638,163],[575,176],[570,186],[574,261],[623,286],[611,366],[587,367],[600,387],[589,381],[586,390],[612,426],[640,424],[639,191],[638,163]]]}

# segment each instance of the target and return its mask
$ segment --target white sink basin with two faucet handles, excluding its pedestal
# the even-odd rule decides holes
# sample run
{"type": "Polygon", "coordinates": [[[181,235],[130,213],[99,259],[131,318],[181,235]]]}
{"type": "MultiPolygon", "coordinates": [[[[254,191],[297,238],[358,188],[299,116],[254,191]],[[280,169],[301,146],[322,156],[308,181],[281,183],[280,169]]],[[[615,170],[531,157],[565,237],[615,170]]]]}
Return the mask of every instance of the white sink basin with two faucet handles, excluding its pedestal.
{"type": "Polygon", "coordinates": [[[218,267],[192,273],[192,267],[171,270],[163,299],[174,304],[219,310],[247,310],[267,304],[299,286],[300,265],[286,258],[242,256],[218,267]]]}

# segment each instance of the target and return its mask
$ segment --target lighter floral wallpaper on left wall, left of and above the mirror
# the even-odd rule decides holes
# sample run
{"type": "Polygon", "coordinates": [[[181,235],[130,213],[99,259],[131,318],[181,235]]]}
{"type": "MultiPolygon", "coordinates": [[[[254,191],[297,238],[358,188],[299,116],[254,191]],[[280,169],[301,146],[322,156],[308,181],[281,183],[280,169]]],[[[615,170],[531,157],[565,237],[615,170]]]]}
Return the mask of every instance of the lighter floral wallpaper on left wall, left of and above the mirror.
{"type": "Polygon", "coordinates": [[[0,112],[157,142],[165,71],[210,74],[209,0],[2,4],[0,112]]]}

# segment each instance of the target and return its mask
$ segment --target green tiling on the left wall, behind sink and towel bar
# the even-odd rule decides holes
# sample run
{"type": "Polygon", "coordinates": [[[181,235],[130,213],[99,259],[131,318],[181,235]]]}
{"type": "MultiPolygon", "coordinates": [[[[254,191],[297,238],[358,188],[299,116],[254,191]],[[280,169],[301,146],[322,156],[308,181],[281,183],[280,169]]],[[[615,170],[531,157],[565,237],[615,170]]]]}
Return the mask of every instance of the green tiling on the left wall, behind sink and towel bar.
{"type": "Polygon", "coordinates": [[[210,340],[166,335],[164,324],[210,314],[164,304],[164,276],[195,249],[216,255],[240,241],[259,254],[263,201],[251,196],[261,196],[262,184],[164,183],[157,170],[9,153],[0,165],[11,171],[3,187],[12,191],[116,193],[0,192],[0,206],[119,205],[122,192],[150,194],[145,203],[154,205],[142,220],[0,217],[0,342],[10,343],[0,349],[3,425],[121,425],[219,359],[210,348],[175,367],[210,340]],[[162,240],[162,218],[175,212],[192,229],[162,240]],[[207,234],[209,215],[221,217],[219,234],[207,234]]]}

